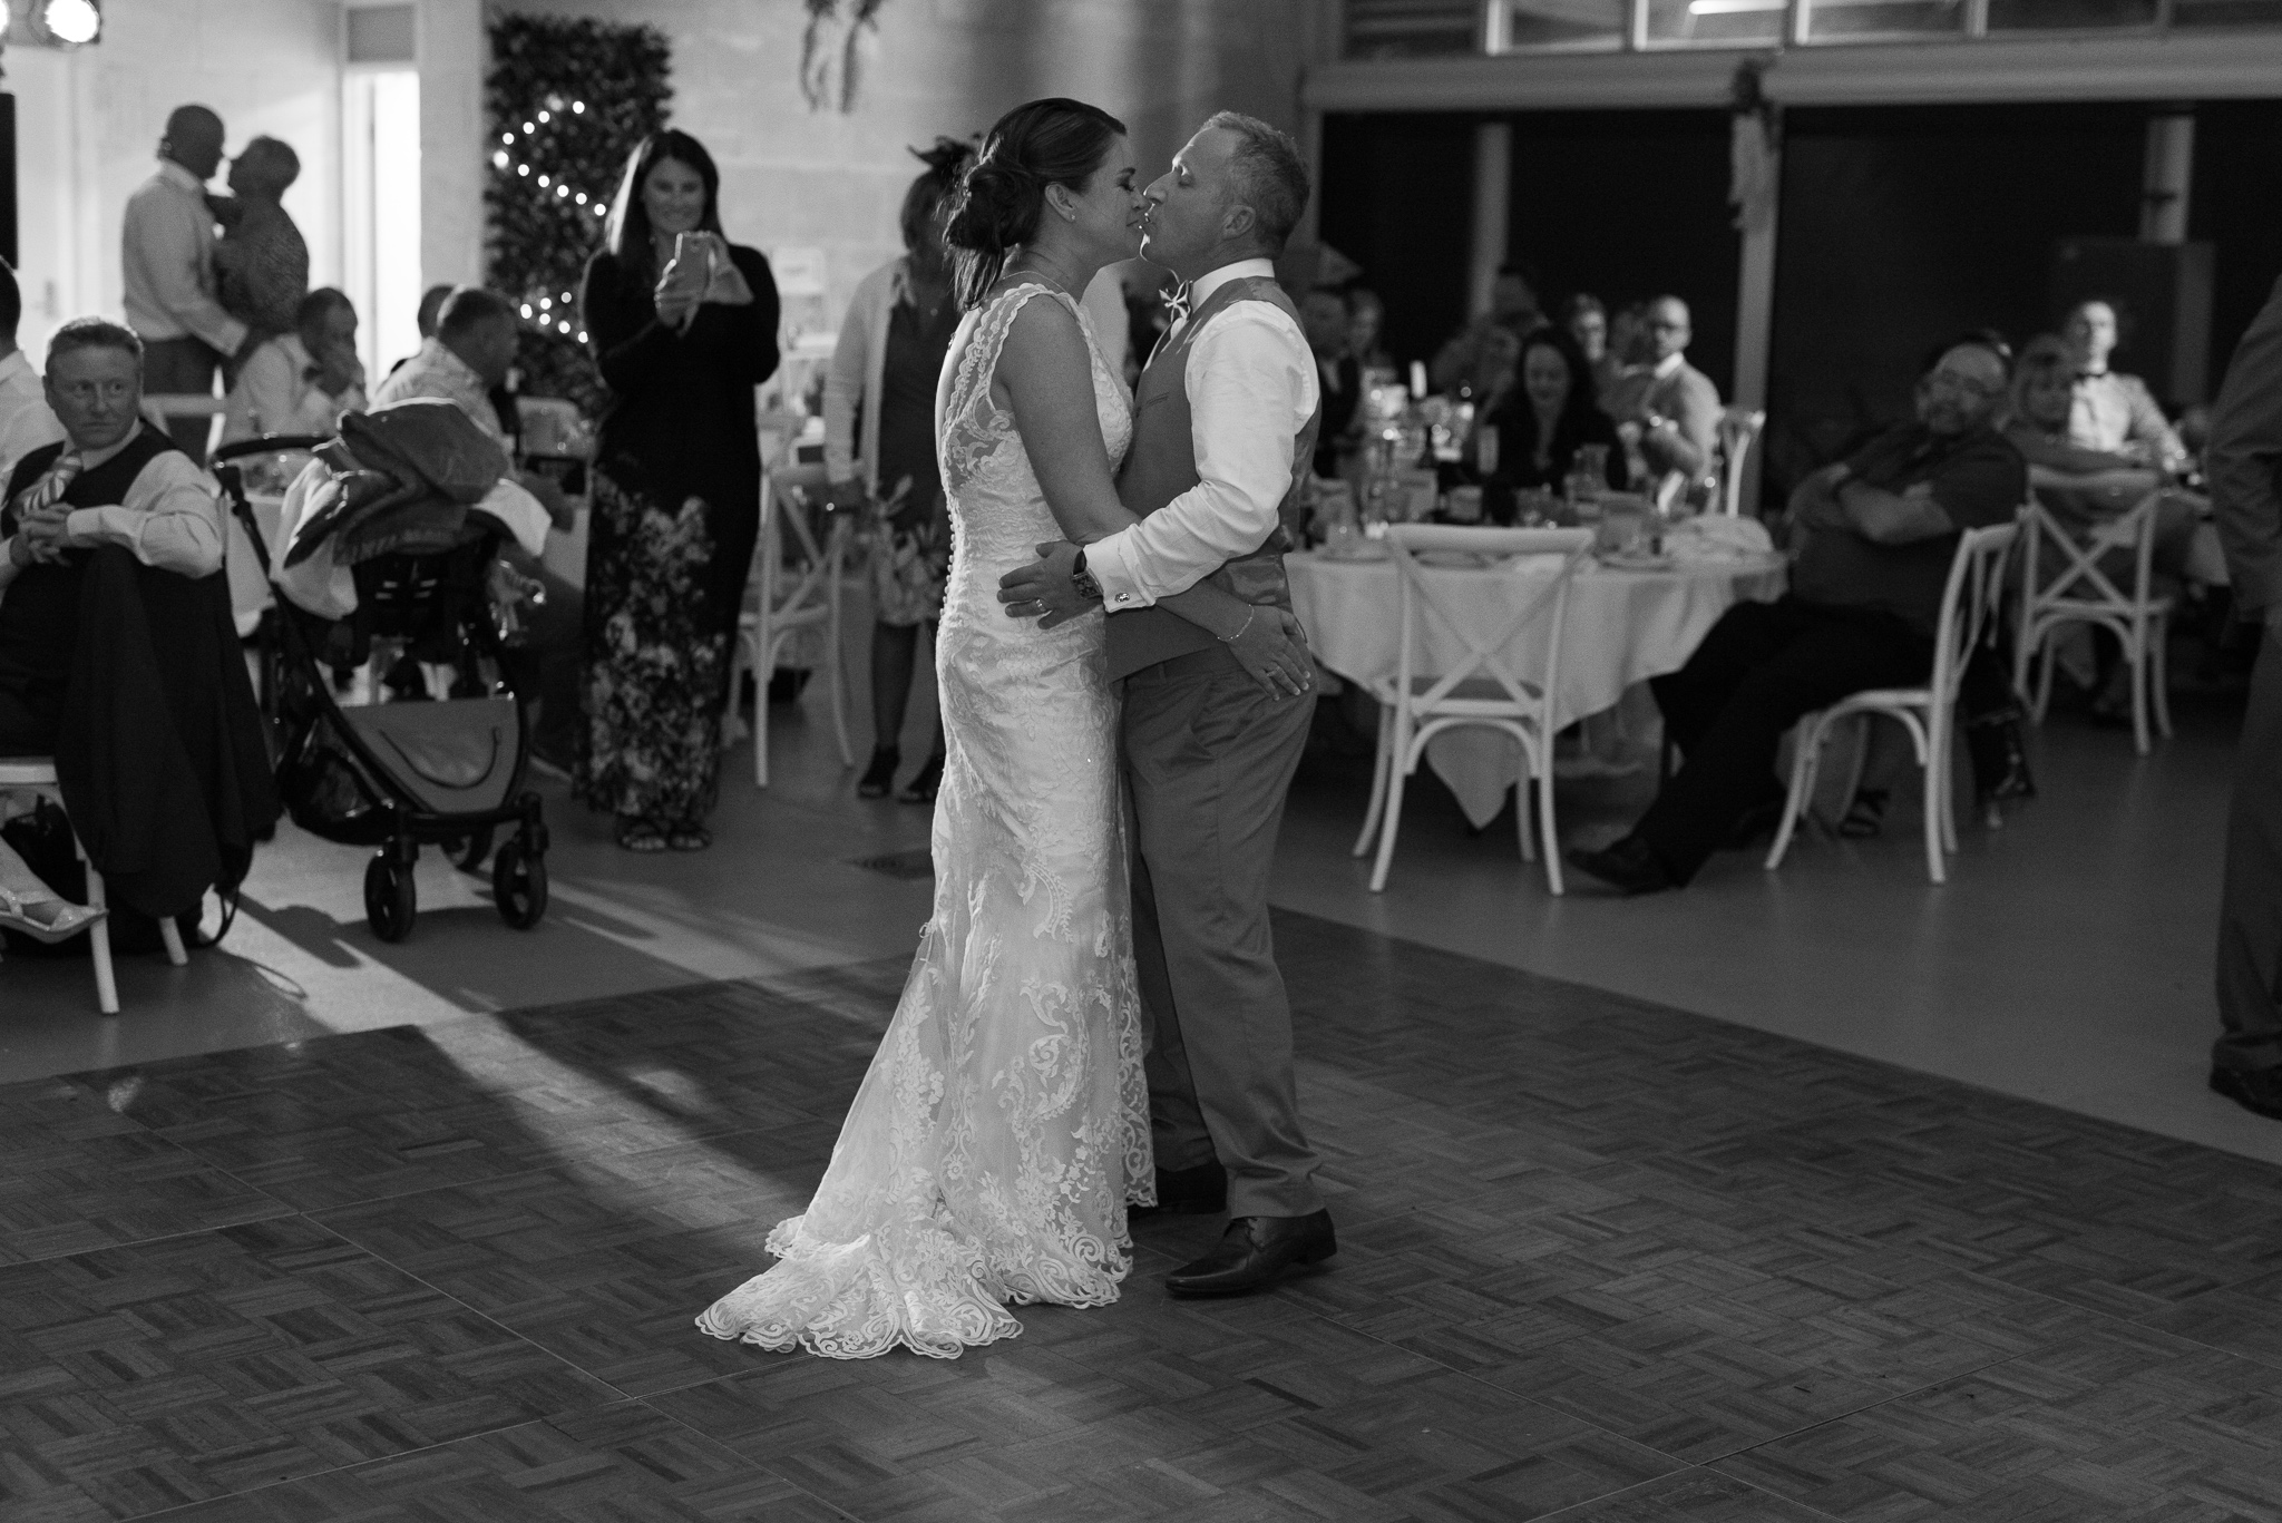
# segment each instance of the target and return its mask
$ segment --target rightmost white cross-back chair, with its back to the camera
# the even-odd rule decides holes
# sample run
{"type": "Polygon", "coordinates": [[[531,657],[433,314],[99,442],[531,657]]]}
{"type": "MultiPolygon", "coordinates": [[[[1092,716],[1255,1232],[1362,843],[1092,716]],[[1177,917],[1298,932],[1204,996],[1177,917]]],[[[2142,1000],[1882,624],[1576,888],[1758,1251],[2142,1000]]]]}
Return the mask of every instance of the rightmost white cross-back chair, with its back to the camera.
{"type": "Polygon", "coordinates": [[[2058,644],[2054,635],[2072,623],[2113,630],[2131,669],[2131,740],[2141,756],[2147,756],[2150,701],[2156,728],[2170,738],[2163,669],[2170,598],[2154,594],[2156,507],[2161,498],[2147,493],[2129,511],[2077,539],[2031,495],[2022,509],[2020,644],[2013,651],[2013,687],[2024,699],[2029,699],[2029,662],[2042,655],[2036,696],[2029,699],[2029,712],[2042,724],[2045,706],[2052,703],[2052,658],[2058,644]],[[2111,550],[2131,553],[2129,591],[2099,566],[2111,550]],[[2056,573],[2047,573],[2047,564],[2056,566],[2056,573]]]}

